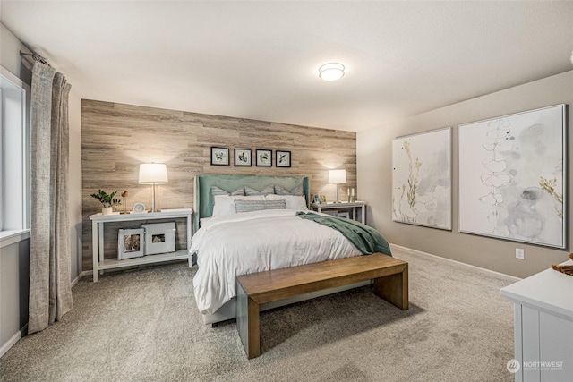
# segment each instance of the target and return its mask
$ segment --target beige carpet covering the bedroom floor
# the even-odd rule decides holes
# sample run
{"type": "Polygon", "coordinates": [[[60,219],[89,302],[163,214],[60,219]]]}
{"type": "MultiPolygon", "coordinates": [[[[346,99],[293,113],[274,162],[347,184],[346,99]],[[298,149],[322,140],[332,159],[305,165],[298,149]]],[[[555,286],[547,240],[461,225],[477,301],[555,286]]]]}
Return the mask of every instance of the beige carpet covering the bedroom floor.
{"type": "Polygon", "coordinates": [[[410,263],[410,310],[368,287],[261,313],[248,361],[235,321],[202,325],[196,267],[85,277],[73,310],[0,359],[2,381],[510,381],[512,281],[395,250],[410,263]]]}

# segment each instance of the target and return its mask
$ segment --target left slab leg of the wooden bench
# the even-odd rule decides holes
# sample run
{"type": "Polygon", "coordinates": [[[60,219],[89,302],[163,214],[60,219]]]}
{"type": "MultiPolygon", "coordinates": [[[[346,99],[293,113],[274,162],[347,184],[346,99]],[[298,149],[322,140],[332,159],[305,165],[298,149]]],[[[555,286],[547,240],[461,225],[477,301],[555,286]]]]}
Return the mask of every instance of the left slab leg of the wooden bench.
{"type": "Polygon", "coordinates": [[[237,281],[236,329],[241,337],[247,358],[261,355],[261,336],[259,333],[259,303],[246,295],[243,285],[237,281]]]}

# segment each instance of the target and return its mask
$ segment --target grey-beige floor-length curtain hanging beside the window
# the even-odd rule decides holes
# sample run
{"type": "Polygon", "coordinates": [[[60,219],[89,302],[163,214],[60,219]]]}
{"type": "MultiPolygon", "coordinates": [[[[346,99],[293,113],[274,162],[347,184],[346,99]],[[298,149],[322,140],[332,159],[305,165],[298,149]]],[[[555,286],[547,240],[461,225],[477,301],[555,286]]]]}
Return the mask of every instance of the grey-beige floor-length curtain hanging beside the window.
{"type": "Polygon", "coordinates": [[[72,309],[68,219],[68,98],[64,75],[36,61],[30,92],[30,306],[28,333],[72,309]]]}

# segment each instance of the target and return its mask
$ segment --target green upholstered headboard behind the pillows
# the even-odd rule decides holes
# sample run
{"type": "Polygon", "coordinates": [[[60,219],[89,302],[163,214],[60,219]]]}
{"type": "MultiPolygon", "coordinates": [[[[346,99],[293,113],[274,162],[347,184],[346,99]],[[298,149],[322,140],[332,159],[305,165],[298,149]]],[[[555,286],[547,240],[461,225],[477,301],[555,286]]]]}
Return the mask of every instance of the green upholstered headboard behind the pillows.
{"type": "Polygon", "coordinates": [[[232,192],[242,186],[262,190],[265,186],[269,185],[278,185],[286,190],[293,190],[296,187],[303,186],[304,197],[308,205],[311,191],[307,176],[195,175],[193,231],[199,229],[199,219],[201,219],[201,217],[210,217],[213,213],[212,186],[217,186],[225,191],[232,192]]]}

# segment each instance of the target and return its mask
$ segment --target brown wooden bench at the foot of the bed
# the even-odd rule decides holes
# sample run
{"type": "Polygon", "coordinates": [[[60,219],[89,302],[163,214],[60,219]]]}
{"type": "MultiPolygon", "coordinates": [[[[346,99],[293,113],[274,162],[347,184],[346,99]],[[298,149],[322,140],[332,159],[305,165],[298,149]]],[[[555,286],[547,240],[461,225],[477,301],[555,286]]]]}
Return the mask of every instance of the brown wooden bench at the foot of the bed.
{"type": "Polygon", "coordinates": [[[408,309],[408,263],[381,253],[237,276],[236,327],[247,357],[261,354],[261,303],[369,279],[374,293],[408,309]]]}

